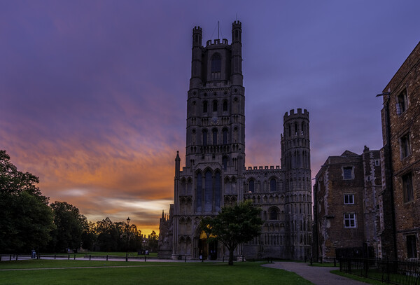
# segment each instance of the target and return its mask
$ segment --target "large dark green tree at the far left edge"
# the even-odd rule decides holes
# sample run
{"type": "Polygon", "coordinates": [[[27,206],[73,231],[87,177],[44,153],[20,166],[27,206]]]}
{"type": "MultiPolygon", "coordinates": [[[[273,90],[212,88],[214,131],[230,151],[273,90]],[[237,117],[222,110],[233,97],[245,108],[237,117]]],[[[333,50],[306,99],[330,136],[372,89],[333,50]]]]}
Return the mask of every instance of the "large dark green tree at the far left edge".
{"type": "Polygon", "coordinates": [[[0,150],[0,252],[27,253],[48,244],[55,226],[38,182],[33,174],[18,171],[0,150]]]}

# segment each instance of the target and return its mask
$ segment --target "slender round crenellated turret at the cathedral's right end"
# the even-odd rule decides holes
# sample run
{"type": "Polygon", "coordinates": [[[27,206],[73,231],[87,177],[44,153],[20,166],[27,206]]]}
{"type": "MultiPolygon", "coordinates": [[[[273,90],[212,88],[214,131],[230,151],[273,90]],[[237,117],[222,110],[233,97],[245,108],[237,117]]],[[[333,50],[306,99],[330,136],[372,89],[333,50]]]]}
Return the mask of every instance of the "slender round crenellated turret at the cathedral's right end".
{"type": "Polygon", "coordinates": [[[285,169],[286,221],[290,230],[291,258],[308,256],[311,250],[311,162],[309,112],[290,110],[283,117],[281,167],[285,169]]]}

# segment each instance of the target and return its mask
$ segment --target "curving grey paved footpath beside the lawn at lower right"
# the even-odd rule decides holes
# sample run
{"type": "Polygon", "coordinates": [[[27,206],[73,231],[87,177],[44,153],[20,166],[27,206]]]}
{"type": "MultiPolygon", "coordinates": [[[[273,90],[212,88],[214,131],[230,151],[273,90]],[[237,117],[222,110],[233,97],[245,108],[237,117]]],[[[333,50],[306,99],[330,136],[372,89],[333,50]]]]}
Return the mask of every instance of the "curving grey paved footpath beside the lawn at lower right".
{"type": "Polygon", "coordinates": [[[337,267],[309,266],[308,263],[294,262],[268,263],[262,266],[295,272],[315,285],[366,285],[364,282],[330,273],[331,270],[337,270],[337,267]]]}

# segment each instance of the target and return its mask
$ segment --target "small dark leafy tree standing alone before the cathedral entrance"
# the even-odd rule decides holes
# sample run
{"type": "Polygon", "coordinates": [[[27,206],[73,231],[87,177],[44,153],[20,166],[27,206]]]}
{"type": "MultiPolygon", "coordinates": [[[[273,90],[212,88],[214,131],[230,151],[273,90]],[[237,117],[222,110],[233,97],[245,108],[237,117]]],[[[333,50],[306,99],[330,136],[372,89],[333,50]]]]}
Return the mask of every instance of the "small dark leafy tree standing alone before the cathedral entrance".
{"type": "Polygon", "coordinates": [[[202,218],[202,229],[208,241],[216,239],[229,251],[229,265],[233,265],[233,253],[242,242],[249,242],[260,235],[262,220],[261,209],[246,200],[233,207],[223,207],[214,218],[202,218]]]}

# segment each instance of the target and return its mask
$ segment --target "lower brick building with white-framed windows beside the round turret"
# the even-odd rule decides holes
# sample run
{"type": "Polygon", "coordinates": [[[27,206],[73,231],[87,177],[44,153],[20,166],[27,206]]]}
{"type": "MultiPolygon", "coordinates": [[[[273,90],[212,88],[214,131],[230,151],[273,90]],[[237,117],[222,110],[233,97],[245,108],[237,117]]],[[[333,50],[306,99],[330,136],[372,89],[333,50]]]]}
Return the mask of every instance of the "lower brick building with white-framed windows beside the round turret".
{"type": "Polygon", "coordinates": [[[377,256],[380,192],[379,151],[328,157],[314,184],[313,256],[377,256]]]}

